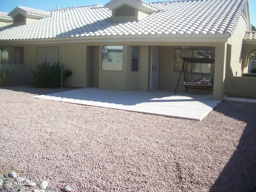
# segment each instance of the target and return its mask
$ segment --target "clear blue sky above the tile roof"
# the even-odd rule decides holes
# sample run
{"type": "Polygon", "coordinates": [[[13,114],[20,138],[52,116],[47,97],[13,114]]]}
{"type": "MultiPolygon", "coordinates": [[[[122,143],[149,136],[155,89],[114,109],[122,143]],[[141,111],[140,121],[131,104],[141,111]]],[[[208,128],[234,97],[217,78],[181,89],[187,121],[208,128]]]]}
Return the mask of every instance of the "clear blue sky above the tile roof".
{"type": "MultiPolygon", "coordinates": [[[[160,0],[144,0],[146,2],[156,2],[160,0]]],[[[163,1],[163,0],[162,0],[163,1]]],[[[24,6],[44,11],[53,10],[59,5],[59,9],[94,4],[102,4],[103,6],[110,0],[0,0],[0,12],[10,13],[17,6],[24,6]]],[[[256,26],[256,0],[249,0],[251,24],[256,26]]]]}

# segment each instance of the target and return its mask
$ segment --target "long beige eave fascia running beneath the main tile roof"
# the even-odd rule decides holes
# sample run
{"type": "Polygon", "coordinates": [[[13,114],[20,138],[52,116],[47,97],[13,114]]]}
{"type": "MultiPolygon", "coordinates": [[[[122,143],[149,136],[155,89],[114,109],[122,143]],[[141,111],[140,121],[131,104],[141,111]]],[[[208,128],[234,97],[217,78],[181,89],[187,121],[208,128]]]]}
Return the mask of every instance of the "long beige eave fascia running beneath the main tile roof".
{"type": "Polygon", "coordinates": [[[137,42],[142,44],[166,44],[166,43],[225,43],[230,37],[229,34],[148,34],[148,35],[112,35],[112,36],[79,36],[65,38],[29,39],[29,40],[4,40],[0,45],[20,45],[20,44],[59,44],[65,43],[127,43],[137,42]]]}

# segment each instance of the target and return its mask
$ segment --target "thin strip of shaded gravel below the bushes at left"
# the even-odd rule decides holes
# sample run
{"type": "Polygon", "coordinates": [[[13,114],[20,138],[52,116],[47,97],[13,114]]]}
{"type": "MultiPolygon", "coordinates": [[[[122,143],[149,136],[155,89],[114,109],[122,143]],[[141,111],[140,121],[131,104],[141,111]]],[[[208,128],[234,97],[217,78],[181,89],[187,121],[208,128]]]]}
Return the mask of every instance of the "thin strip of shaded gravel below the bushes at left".
{"type": "MultiPolygon", "coordinates": [[[[30,94],[50,94],[50,93],[56,93],[61,92],[61,87],[58,88],[35,88],[32,84],[26,83],[26,84],[16,84],[14,86],[7,86],[7,87],[0,87],[0,89],[5,90],[12,90],[17,92],[25,92],[30,94]]],[[[75,87],[62,87],[62,91],[69,91],[79,89],[75,87]]]]}

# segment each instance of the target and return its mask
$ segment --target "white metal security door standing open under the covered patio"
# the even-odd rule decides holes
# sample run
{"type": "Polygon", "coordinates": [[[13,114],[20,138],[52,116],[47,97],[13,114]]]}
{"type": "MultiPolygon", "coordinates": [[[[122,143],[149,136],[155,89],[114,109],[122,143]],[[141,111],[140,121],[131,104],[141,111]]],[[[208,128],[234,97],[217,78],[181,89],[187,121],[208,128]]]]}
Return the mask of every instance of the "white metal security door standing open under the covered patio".
{"type": "Polygon", "coordinates": [[[158,89],[159,47],[151,48],[150,91],[158,89]]]}

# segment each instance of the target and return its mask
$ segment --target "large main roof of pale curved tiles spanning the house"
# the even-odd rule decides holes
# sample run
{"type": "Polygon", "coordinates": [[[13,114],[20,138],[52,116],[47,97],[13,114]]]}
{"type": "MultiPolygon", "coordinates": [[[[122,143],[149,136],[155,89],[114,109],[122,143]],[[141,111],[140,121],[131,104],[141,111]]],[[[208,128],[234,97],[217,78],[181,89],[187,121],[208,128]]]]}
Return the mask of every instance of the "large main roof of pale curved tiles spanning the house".
{"type": "Polygon", "coordinates": [[[0,40],[232,34],[246,3],[247,0],[156,2],[152,3],[152,6],[156,6],[160,11],[140,21],[115,23],[111,22],[111,11],[101,5],[52,10],[51,16],[33,23],[2,28],[0,40]]]}

